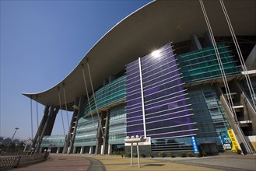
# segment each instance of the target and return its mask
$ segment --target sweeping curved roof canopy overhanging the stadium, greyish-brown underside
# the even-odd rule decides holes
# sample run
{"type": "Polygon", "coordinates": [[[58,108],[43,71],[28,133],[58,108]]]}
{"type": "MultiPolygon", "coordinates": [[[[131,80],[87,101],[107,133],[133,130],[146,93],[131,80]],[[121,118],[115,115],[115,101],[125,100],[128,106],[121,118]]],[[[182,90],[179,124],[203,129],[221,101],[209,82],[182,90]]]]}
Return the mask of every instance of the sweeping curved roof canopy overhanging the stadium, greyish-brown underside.
{"type": "MultiPolygon", "coordinates": [[[[224,1],[236,35],[256,35],[256,2],[224,1]]],[[[230,36],[225,16],[219,1],[204,1],[206,12],[215,37],[230,36]]],[[[67,103],[86,95],[82,77],[85,65],[87,87],[91,93],[86,60],[89,61],[94,89],[103,84],[103,79],[116,75],[124,65],[149,54],[158,47],[172,41],[190,40],[193,33],[203,37],[208,32],[199,1],[177,0],[156,1],[144,6],[117,23],[82,58],[79,65],[61,82],[51,89],[38,93],[23,93],[38,103],[59,106],[58,87],[61,98],[63,83],[67,103]]],[[[64,104],[64,99],[61,99],[64,104]]]]}

